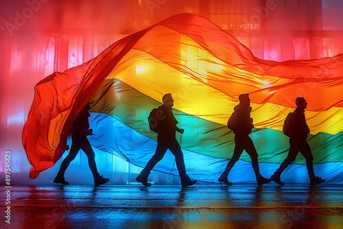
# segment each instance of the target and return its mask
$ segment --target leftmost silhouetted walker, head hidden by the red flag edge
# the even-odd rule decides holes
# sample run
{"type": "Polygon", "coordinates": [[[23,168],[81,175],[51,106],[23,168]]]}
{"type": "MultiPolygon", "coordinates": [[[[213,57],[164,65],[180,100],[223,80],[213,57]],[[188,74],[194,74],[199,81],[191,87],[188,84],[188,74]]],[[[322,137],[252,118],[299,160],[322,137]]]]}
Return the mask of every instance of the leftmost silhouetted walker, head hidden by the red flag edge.
{"type": "Polygon", "coordinates": [[[91,135],[93,133],[92,129],[88,130],[88,117],[90,116],[88,112],[89,108],[90,104],[88,102],[73,122],[74,132],[73,136],[71,137],[73,143],[71,144],[71,149],[68,156],[64,158],[62,165],[60,167],[60,171],[58,171],[57,176],[54,180],[56,184],[69,184],[69,182],[64,180],[64,172],[66,171],[70,162],[74,160],[80,149],[82,149],[88,157],[88,165],[93,173],[95,186],[105,184],[109,180],[108,178],[102,178],[102,176],[100,176],[97,172],[97,165],[95,164],[95,154],[87,138],[88,135],[91,135]]]}

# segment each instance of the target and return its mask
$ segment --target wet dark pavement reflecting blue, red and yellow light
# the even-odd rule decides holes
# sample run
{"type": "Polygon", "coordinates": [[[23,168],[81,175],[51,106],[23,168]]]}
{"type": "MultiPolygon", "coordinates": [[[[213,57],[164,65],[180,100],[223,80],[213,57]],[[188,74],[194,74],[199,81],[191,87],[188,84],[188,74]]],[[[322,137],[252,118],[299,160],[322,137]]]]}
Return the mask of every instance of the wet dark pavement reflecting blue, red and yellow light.
{"type": "Polygon", "coordinates": [[[5,228],[343,228],[343,186],[21,185],[5,228]]]}

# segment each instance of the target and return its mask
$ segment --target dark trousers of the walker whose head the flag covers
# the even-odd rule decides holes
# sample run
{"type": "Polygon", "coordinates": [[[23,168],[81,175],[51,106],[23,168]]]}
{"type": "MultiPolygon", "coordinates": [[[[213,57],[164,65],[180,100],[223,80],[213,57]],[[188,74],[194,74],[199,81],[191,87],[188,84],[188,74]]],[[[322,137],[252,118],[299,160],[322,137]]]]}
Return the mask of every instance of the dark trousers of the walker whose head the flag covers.
{"type": "Polygon", "coordinates": [[[64,176],[64,172],[66,171],[70,162],[75,159],[76,155],[78,155],[80,149],[83,150],[88,158],[88,165],[93,173],[93,177],[97,178],[97,176],[99,176],[99,173],[97,173],[97,165],[95,164],[95,154],[87,138],[82,139],[82,141],[73,141],[68,156],[64,158],[61,164],[60,171],[58,171],[58,176],[64,176]]]}

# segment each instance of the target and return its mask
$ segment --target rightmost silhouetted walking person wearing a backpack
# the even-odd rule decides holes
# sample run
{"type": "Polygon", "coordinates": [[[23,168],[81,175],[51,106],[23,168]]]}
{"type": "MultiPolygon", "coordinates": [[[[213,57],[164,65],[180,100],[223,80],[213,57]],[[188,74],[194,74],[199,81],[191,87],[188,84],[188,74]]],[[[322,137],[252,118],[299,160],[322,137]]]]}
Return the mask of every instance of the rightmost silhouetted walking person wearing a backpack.
{"type": "Polygon", "coordinates": [[[285,127],[287,125],[287,119],[284,125],[284,132],[285,134],[290,136],[289,144],[291,147],[289,148],[288,156],[285,161],[282,162],[279,169],[276,170],[274,175],[272,175],[271,179],[274,180],[277,184],[284,185],[285,183],[281,182],[280,176],[281,173],[287,168],[287,166],[296,158],[296,155],[300,151],[306,159],[307,171],[309,172],[309,180],[311,185],[320,184],[324,182],[322,178],[318,178],[314,176],[314,165],[313,160],[314,157],[312,156],[311,149],[309,148],[309,144],[306,141],[307,134],[309,134],[309,127],[306,124],[305,119],[305,109],[307,108],[307,102],[303,97],[296,98],[296,110],[294,113],[290,113],[289,119],[289,128],[285,127]],[[289,130],[286,130],[289,129],[289,130]],[[289,132],[289,133],[287,133],[289,132]]]}

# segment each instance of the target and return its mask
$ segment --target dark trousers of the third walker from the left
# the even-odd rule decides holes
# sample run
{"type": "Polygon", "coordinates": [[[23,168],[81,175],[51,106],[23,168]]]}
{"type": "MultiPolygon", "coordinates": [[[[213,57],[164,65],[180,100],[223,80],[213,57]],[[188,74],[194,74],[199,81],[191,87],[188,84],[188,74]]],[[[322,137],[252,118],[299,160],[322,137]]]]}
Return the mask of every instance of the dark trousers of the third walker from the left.
{"type": "Polygon", "coordinates": [[[228,162],[224,173],[226,176],[233,168],[233,165],[237,162],[243,150],[245,149],[246,152],[249,154],[251,158],[252,168],[255,171],[255,176],[257,179],[261,178],[261,173],[259,172],[259,161],[257,160],[257,152],[255,149],[254,143],[252,143],[251,138],[248,134],[236,134],[235,135],[235,151],[233,152],[233,157],[228,162]]]}

